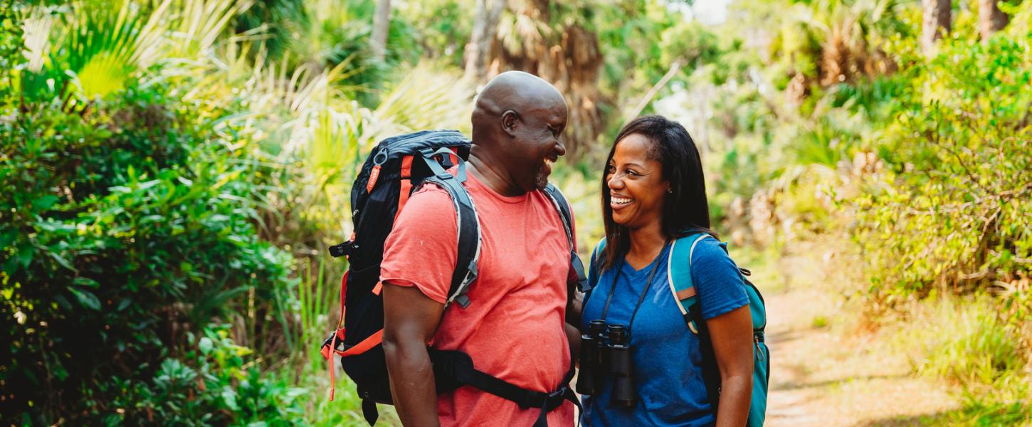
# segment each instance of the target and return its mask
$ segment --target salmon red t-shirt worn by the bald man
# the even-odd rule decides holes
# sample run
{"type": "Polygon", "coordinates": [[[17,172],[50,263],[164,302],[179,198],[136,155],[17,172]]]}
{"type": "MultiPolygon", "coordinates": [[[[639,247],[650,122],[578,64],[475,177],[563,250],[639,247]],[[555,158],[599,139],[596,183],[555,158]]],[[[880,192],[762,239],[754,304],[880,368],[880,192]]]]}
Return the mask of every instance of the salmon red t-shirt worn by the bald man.
{"type": "MultiPolygon", "coordinates": [[[[478,276],[466,293],[470,305],[449,305],[430,343],[462,351],[478,370],[516,386],[554,391],[570,368],[570,243],[559,213],[540,191],[505,197],[473,174],[465,188],[480,219],[478,276]]],[[[455,224],[444,190],[428,185],[412,195],[387,238],[381,281],[444,303],[458,252],[455,224]]],[[[463,386],[438,396],[438,414],[444,426],[529,426],[541,409],[463,386]]],[[[548,424],[572,425],[573,405],[550,412],[548,424]]]]}

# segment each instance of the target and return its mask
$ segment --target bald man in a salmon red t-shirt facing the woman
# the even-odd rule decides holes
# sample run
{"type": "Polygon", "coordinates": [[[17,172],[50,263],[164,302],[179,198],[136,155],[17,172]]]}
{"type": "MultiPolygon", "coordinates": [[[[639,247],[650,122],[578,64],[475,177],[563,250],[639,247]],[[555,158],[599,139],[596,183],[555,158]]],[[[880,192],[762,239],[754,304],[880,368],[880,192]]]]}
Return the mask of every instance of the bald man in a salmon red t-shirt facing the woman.
{"type": "Polygon", "coordinates": [[[402,424],[573,424],[573,406],[561,400],[543,410],[469,386],[438,395],[426,347],[464,352],[476,369],[522,389],[550,393],[566,386],[571,248],[555,207],[540,191],[552,163],[566,154],[566,125],[562,95],[531,74],[499,74],[477,98],[464,186],[482,247],[467,307],[444,309],[457,258],[448,194],[425,186],[398,216],[380,276],[383,349],[402,424]]]}

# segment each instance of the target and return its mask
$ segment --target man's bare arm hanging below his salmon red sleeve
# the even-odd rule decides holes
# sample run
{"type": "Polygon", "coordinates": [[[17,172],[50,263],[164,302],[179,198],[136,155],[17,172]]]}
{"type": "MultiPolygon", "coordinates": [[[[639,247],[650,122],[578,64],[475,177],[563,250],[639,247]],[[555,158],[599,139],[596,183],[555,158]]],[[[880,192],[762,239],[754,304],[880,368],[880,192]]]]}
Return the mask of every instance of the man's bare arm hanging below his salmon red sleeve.
{"type": "Polygon", "coordinates": [[[441,323],[444,304],[415,287],[384,284],[384,356],[401,424],[438,426],[438,394],[426,343],[441,323]]]}

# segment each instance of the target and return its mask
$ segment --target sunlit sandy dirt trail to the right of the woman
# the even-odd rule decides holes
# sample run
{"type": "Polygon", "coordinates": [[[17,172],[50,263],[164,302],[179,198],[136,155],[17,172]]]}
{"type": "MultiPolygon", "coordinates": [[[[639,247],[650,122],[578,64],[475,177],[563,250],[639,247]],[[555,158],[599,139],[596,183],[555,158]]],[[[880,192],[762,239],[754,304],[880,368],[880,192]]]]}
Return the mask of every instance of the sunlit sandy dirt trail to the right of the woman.
{"type": "MultiPolygon", "coordinates": [[[[915,376],[884,333],[858,327],[834,286],[844,277],[834,254],[817,248],[777,264],[782,289],[764,289],[771,384],[767,426],[921,426],[958,407],[942,384],[915,376]]],[[[851,263],[845,263],[851,264],[851,263]]],[[[757,277],[759,278],[759,277],[757,277]]]]}

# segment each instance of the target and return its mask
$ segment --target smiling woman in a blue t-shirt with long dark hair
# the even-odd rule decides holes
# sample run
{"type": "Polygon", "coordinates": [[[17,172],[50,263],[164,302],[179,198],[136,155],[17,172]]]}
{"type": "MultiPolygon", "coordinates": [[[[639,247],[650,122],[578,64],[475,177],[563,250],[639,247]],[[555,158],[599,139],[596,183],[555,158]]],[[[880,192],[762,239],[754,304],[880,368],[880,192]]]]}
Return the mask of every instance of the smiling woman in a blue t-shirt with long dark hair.
{"type": "MultiPolygon", "coordinates": [[[[584,396],[582,422],[745,425],[752,323],[738,267],[715,238],[700,240],[690,255],[692,284],[719,368],[716,405],[703,381],[699,337],[667,282],[671,241],[699,233],[715,237],[702,162],[687,131],[659,116],[627,124],[609,153],[602,200],[607,243],[600,243],[591,257],[592,289],[585,296],[581,330],[588,331],[592,320],[622,325],[620,333],[630,335],[631,375],[620,380],[605,369],[594,393],[584,396]]],[[[609,358],[616,357],[608,352],[609,358]]]]}

